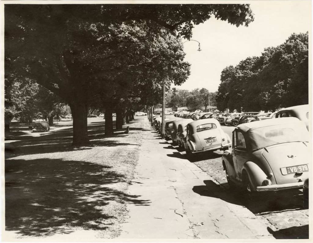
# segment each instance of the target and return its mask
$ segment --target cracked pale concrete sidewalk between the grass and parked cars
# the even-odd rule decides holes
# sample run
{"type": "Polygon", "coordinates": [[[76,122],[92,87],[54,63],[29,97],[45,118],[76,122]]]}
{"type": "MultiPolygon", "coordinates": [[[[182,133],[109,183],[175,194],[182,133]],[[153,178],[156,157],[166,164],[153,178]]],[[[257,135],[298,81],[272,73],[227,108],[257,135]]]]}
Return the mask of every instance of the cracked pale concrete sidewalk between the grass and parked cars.
{"type": "Polygon", "coordinates": [[[274,239],[262,217],[220,199],[213,179],[161,140],[148,120],[142,139],[118,239],[274,239]]]}

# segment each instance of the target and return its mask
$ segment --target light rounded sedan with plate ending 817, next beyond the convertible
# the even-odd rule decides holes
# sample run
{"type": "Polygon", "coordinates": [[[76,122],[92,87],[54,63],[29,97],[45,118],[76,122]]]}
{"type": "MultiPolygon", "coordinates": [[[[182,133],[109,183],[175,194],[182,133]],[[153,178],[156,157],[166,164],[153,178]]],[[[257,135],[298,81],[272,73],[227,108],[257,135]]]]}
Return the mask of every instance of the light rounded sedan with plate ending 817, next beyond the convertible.
{"type": "Polygon", "coordinates": [[[214,118],[194,121],[187,125],[186,154],[228,150],[231,145],[228,134],[214,118]]]}

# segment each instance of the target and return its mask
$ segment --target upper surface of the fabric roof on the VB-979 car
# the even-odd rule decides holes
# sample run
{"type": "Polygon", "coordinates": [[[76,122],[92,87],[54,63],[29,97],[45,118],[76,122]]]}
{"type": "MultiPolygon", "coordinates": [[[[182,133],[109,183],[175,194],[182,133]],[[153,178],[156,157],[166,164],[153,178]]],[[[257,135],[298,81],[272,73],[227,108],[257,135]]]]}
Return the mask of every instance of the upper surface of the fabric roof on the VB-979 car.
{"type": "Polygon", "coordinates": [[[279,125],[279,124],[288,124],[288,123],[303,124],[303,122],[301,122],[296,117],[282,117],[278,119],[267,119],[267,120],[261,120],[261,121],[255,121],[255,122],[247,122],[247,123],[238,125],[235,128],[235,130],[241,130],[243,132],[247,132],[248,130],[252,130],[255,128],[268,127],[268,126],[279,125]]]}

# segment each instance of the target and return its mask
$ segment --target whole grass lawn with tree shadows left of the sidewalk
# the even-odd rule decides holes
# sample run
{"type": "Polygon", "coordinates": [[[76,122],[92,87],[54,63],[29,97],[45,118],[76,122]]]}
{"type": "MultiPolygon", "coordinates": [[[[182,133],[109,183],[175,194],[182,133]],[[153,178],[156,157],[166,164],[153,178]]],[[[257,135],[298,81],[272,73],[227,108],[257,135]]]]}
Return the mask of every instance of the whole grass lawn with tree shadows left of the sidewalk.
{"type": "MultiPolygon", "coordinates": [[[[131,129],[141,130],[143,119],[131,129]]],[[[16,238],[85,230],[95,238],[119,235],[125,203],[140,203],[126,190],[141,135],[124,129],[106,138],[103,119],[89,122],[88,129],[90,147],[71,146],[72,128],[12,140],[5,151],[6,232],[16,238]]]]}

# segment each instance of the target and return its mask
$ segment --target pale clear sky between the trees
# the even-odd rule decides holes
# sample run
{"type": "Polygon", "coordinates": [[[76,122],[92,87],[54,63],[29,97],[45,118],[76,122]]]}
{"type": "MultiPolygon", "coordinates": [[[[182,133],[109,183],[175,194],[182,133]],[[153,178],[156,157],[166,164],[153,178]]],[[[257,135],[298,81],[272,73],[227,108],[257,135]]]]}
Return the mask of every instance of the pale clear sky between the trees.
{"type": "MultiPolygon", "coordinates": [[[[248,3],[248,2],[244,2],[248,3]]],[[[260,56],[264,48],[283,44],[292,33],[311,34],[310,1],[251,1],[254,22],[249,27],[228,24],[214,17],[196,25],[192,40],[184,43],[185,61],[191,64],[191,75],[181,86],[189,91],[206,88],[218,90],[222,70],[236,66],[249,56],[260,56]]],[[[183,40],[185,41],[185,40],[183,40]]]]}

